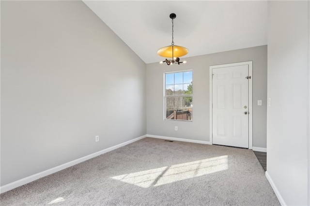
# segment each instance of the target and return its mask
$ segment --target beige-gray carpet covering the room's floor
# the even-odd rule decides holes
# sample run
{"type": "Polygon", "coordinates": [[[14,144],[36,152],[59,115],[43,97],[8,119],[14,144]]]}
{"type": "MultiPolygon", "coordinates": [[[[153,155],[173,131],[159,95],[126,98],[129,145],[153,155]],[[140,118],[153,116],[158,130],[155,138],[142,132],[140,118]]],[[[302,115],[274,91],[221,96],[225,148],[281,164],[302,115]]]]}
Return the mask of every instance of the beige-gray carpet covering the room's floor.
{"type": "Polygon", "coordinates": [[[1,194],[5,205],[279,206],[248,149],[144,138],[1,194]]]}

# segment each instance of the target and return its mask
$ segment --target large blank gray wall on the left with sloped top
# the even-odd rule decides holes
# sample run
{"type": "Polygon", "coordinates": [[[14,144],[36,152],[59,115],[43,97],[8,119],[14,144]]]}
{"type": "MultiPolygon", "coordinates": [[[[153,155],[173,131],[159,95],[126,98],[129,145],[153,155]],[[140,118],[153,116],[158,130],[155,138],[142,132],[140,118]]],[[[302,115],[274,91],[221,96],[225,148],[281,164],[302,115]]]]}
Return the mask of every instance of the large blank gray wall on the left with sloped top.
{"type": "Polygon", "coordinates": [[[1,1],[1,186],[146,134],[145,70],[82,1],[1,1]]]}

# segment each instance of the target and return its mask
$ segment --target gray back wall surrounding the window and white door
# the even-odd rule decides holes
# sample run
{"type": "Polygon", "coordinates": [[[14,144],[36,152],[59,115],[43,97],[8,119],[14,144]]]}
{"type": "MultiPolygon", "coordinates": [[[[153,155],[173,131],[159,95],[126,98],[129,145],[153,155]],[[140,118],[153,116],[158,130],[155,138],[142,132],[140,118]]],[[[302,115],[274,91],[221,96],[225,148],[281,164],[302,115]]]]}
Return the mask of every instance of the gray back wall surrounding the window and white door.
{"type": "Polygon", "coordinates": [[[253,147],[266,147],[267,46],[185,59],[187,63],[181,65],[147,64],[147,133],[209,141],[209,67],[253,61],[253,147]],[[164,121],[163,74],[182,70],[193,70],[193,121],[164,121]],[[257,100],[262,100],[263,105],[257,106],[257,100]]]}

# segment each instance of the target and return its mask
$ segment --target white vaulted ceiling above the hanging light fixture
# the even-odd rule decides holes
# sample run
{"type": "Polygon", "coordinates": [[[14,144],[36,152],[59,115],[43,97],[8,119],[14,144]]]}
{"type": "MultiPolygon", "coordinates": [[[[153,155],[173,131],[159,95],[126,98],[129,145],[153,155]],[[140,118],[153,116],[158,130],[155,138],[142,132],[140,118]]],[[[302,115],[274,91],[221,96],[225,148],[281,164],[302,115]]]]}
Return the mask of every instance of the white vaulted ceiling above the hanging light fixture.
{"type": "Polygon", "coordinates": [[[145,63],[163,60],[157,50],[174,43],[182,58],[267,44],[267,1],[84,0],[145,63]]]}

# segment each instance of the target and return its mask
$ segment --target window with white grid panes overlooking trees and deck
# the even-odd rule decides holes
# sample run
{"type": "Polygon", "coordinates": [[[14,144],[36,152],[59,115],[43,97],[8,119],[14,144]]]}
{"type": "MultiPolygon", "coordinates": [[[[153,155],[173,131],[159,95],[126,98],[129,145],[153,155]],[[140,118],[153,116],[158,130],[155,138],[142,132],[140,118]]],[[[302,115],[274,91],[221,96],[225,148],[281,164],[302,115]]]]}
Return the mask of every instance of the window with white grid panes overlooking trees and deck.
{"type": "Polygon", "coordinates": [[[193,120],[193,72],[165,74],[165,119],[193,120]]]}

